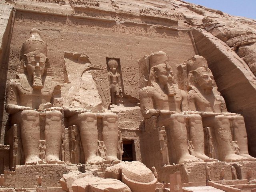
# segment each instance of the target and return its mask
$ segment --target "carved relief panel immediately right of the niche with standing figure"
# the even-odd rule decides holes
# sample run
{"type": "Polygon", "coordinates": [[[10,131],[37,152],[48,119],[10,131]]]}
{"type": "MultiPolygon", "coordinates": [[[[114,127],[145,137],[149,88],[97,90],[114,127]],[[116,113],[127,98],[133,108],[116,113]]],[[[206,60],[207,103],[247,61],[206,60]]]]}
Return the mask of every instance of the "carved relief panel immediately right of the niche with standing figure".
{"type": "Polygon", "coordinates": [[[134,98],[139,98],[139,72],[138,68],[122,68],[122,79],[124,84],[124,93],[134,98]]]}

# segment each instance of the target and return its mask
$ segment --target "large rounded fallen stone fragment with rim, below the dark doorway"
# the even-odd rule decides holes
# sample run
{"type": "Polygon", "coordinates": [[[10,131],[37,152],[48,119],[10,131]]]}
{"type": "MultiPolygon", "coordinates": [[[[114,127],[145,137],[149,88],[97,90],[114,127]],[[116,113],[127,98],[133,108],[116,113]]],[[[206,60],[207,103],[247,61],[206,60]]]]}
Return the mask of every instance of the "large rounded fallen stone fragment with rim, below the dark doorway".
{"type": "Polygon", "coordinates": [[[121,180],[133,192],[153,192],[157,179],[144,164],[135,162],[121,162],[106,169],[105,178],[121,180]],[[135,168],[136,167],[136,168],[135,168]]]}

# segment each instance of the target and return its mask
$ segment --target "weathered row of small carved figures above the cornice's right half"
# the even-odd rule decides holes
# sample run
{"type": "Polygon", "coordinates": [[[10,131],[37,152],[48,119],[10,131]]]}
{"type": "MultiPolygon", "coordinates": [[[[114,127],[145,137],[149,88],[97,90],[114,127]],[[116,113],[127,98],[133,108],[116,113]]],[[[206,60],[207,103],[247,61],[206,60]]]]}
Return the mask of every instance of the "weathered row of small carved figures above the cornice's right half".
{"type": "Polygon", "coordinates": [[[171,13],[168,11],[155,9],[155,8],[144,8],[144,9],[140,9],[139,12],[144,14],[156,15],[156,16],[184,19],[183,13],[174,13],[174,12],[171,13]]]}

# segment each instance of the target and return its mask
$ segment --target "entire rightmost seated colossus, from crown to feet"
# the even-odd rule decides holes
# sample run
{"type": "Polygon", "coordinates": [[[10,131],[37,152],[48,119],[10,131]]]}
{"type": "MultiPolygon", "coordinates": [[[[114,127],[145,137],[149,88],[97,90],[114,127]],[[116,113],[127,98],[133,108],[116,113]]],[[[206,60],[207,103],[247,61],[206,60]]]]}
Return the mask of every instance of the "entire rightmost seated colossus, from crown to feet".
{"type": "Polygon", "coordinates": [[[186,62],[189,74],[188,102],[192,111],[198,111],[205,127],[214,127],[220,160],[236,162],[255,160],[248,154],[247,134],[244,118],[229,113],[224,98],[214,90],[214,78],[202,56],[194,56],[186,62]],[[240,147],[240,156],[234,152],[230,121],[234,130],[234,140],[240,147]]]}

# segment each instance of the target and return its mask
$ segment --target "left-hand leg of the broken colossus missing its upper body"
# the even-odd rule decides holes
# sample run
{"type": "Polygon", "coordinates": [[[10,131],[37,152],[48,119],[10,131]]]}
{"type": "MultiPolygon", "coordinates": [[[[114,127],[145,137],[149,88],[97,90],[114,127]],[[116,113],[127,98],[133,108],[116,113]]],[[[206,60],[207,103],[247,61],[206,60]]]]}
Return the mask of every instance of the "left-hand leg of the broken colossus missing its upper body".
{"type": "Polygon", "coordinates": [[[86,112],[78,115],[78,127],[87,164],[103,164],[103,158],[96,155],[98,148],[98,129],[96,114],[86,112]]]}

